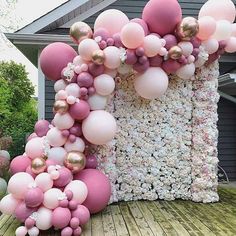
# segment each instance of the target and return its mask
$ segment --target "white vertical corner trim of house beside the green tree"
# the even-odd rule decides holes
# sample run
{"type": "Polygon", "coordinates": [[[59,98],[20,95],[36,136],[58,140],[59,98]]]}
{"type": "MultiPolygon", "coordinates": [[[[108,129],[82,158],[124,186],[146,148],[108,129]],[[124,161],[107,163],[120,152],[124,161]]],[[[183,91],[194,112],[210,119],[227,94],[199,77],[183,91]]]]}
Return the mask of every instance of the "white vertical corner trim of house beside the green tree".
{"type": "MultiPolygon", "coordinates": [[[[38,51],[38,56],[41,50],[38,51]]],[[[45,119],[45,76],[38,60],[38,119],[45,119]]]]}

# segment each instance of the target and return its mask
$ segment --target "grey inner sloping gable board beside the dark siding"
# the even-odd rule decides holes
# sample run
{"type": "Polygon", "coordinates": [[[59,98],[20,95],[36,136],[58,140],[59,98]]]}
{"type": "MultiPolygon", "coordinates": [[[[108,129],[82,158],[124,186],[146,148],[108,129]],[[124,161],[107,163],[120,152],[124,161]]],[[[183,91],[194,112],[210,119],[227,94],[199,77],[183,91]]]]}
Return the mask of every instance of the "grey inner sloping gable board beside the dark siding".
{"type": "Polygon", "coordinates": [[[101,11],[105,7],[111,5],[112,3],[116,2],[117,0],[104,0],[101,3],[96,4],[95,6],[89,8],[87,11],[83,12],[82,14],[78,15],[74,19],[68,21],[64,25],[60,26],[60,28],[70,28],[71,25],[77,21],[83,21],[90,16],[96,14],[98,11],[101,11]]]}

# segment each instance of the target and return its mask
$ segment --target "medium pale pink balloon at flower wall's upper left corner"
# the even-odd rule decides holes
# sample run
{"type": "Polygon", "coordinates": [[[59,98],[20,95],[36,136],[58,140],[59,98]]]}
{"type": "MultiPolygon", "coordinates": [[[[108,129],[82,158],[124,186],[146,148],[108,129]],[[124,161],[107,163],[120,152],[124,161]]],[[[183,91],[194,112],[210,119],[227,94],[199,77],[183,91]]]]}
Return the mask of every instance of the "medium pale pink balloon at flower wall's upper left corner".
{"type": "Polygon", "coordinates": [[[110,75],[102,74],[94,79],[94,87],[100,95],[107,96],[115,89],[115,81],[110,75]]]}

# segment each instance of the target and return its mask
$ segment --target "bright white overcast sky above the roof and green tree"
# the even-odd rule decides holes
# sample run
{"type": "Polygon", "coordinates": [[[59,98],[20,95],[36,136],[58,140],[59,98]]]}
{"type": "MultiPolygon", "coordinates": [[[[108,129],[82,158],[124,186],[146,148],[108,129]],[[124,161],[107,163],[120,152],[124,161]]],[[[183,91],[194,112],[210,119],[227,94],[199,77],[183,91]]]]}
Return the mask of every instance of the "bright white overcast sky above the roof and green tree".
{"type": "MultiPolygon", "coordinates": [[[[7,26],[9,24],[9,18],[11,18],[13,19],[11,24],[15,24],[13,27],[17,26],[17,28],[22,28],[66,1],[67,0],[17,0],[15,9],[11,10],[7,16],[1,16],[0,14],[0,22],[7,26]]],[[[6,4],[5,0],[0,0],[0,8],[2,12],[7,12],[9,5],[6,4]]],[[[9,45],[6,45],[4,41],[0,39],[0,61],[2,60],[13,60],[17,63],[24,64],[29,73],[29,78],[35,87],[35,96],[38,96],[37,68],[19,50],[13,46],[9,47],[9,45]]]]}

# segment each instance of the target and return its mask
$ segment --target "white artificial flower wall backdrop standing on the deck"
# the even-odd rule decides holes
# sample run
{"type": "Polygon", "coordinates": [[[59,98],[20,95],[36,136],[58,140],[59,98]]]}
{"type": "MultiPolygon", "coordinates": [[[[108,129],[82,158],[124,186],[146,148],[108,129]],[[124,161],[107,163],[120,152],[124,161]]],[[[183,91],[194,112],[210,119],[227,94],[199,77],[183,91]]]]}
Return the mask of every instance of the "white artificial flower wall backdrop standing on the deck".
{"type": "Polygon", "coordinates": [[[151,102],[135,93],[132,80],[119,80],[110,101],[115,139],[95,148],[112,183],[111,201],[218,201],[218,64],[193,81],[171,78],[166,95],[151,102]]]}

